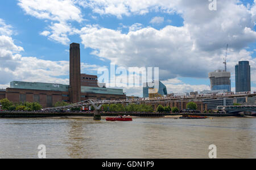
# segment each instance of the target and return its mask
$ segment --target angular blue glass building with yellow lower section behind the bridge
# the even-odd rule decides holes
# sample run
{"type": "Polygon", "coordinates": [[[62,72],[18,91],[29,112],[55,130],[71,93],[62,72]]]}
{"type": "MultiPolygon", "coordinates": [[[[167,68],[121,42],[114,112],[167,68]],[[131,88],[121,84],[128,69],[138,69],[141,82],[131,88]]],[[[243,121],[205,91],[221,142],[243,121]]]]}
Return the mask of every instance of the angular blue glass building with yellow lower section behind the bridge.
{"type": "Polygon", "coordinates": [[[144,82],[143,97],[160,97],[167,95],[166,86],[160,81],[144,82]]]}

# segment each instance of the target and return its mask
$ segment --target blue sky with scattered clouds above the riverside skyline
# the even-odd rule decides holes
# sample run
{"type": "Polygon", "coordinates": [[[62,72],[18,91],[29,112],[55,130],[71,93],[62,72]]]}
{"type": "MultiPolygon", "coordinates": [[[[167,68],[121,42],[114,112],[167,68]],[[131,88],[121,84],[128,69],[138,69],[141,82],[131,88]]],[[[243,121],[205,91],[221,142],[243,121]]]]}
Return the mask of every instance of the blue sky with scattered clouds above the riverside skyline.
{"type": "MultiPolygon", "coordinates": [[[[159,67],[168,93],[209,90],[208,73],[251,65],[256,90],[256,1],[0,1],[0,88],[10,81],[69,84],[69,44],[80,43],[82,73],[159,67]]],[[[98,74],[98,77],[101,75],[98,74]]],[[[142,88],[123,88],[142,96],[142,88]]]]}

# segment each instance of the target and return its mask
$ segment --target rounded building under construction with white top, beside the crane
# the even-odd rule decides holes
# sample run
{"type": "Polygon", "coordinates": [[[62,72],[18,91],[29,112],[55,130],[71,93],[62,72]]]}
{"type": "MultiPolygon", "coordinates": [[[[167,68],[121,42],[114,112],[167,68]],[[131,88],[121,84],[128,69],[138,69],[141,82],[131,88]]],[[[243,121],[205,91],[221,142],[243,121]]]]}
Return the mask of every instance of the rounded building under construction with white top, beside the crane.
{"type": "Polygon", "coordinates": [[[230,72],[217,70],[209,73],[210,89],[231,92],[230,72]]]}

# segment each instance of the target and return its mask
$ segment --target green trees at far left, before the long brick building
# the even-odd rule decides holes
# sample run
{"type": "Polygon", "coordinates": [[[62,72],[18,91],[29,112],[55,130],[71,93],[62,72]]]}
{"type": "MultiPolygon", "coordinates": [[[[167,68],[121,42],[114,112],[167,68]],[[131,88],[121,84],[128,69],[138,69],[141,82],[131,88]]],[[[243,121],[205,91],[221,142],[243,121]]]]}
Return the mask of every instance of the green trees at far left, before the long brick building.
{"type": "Polygon", "coordinates": [[[2,105],[3,110],[9,110],[9,111],[15,111],[15,110],[16,111],[18,110],[37,111],[42,109],[42,106],[36,102],[13,103],[9,101],[9,99],[3,98],[0,100],[0,103],[2,105]]]}

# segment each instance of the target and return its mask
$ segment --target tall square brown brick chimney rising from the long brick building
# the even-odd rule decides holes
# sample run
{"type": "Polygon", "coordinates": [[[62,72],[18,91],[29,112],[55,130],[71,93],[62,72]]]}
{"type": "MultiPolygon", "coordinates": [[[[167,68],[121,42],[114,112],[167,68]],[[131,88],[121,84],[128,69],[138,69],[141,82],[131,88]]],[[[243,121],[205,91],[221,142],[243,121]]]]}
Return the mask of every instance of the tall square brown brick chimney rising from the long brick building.
{"type": "Polygon", "coordinates": [[[81,101],[80,44],[72,43],[69,48],[69,99],[81,101]]]}

